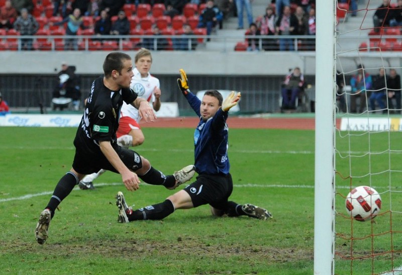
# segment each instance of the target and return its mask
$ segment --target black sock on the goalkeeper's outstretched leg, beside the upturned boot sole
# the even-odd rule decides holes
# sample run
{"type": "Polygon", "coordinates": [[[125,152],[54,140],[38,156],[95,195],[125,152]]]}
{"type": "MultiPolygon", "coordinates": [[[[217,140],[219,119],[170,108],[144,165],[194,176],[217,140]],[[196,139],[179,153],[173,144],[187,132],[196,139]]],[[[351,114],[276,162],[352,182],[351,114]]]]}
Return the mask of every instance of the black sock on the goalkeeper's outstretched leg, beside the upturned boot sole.
{"type": "Polygon", "coordinates": [[[135,210],[132,214],[127,216],[130,222],[137,220],[162,220],[173,212],[173,203],[169,200],[165,200],[163,203],[154,204],[135,210]]]}

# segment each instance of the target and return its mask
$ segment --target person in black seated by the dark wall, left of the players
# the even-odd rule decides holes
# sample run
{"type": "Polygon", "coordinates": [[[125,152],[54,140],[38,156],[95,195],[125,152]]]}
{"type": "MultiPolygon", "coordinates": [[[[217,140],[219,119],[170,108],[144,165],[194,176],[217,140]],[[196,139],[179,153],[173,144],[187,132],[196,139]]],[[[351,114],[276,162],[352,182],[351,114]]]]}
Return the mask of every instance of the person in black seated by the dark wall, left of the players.
{"type": "Polygon", "coordinates": [[[81,91],[79,87],[79,77],[75,74],[75,66],[68,66],[67,62],[62,62],[61,70],[57,73],[56,84],[53,90],[53,99],[70,99],[63,104],[60,101],[53,101],[53,110],[59,108],[63,111],[72,101],[74,110],[79,109],[81,91]],[[60,104],[58,104],[60,103],[60,104]]]}

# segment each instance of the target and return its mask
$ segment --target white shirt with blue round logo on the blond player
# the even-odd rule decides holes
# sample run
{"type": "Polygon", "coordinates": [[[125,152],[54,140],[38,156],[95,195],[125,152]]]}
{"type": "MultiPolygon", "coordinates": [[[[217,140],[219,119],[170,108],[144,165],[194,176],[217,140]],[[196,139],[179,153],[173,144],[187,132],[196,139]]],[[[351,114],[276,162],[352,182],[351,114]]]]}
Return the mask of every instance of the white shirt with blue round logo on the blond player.
{"type": "MultiPolygon", "coordinates": [[[[152,103],[155,101],[154,88],[160,88],[159,79],[152,76],[149,72],[146,77],[141,77],[141,73],[137,68],[134,68],[133,72],[134,76],[131,79],[130,88],[138,94],[138,97],[146,99],[152,106],[152,103]]],[[[131,117],[136,120],[137,123],[141,120],[138,110],[131,104],[126,104],[125,102],[123,102],[120,117],[131,117]]]]}

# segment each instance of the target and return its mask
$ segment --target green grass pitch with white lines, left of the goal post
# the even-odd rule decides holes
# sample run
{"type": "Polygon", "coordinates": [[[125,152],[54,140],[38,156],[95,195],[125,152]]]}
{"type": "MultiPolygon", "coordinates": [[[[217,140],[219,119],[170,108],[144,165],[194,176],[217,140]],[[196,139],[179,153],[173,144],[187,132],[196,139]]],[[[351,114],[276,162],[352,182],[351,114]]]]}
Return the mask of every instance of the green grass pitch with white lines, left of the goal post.
{"type": "MultiPolygon", "coordinates": [[[[193,129],[143,130],[145,143],[135,150],[155,168],[169,174],[193,162],[193,129]]],[[[50,223],[48,240],[39,245],[34,229],[70,169],[75,131],[1,128],[0,273],[313,273],[314,131],[229,132],[231,199],[268,209],[272,220],[216,218],[202,206],[162,221],[119,224],[118,191],[136,208],[162,202],[174,191],[141,184],[130,193],[119,174],[107,172],[94,182],[95,190],[71,192],[50,223]]],[[[349,271],[347,264],[338,268],[340,274],[349,271]]]]}

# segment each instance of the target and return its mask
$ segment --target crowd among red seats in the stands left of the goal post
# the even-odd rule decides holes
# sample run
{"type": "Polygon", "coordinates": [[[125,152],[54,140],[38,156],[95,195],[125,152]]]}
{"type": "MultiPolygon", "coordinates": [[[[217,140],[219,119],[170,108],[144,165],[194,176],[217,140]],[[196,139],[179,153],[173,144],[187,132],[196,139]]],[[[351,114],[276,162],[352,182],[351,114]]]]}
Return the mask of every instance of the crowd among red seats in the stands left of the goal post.
{"type": "MultiPolygon", "coordinates": [[[[237,29],[246,27],[246,36],[315,34],[315,16],[311,15],[314,0],[271,0],[265,14],[256,18],[251,5],[248,0],[3,0],[0,1],[0,35],[70,36],[55,39],[54,45],[46,38],[21,39],[22,50],[50,50],[52,46],[56,50],[85,47],[96,50],[105,49],[104,44],[117,50],[119,43],[123,43],[123,50],[144,45],[155,50],[194,50],[196,43],[210,40],[214,29],[223,29],[229,17],[238,18],[237,29]],[[243,26],[243,10],[247,26],[243,26]],[[71,37],[77,35],[94,37],[71,37]],[[111,38],[114,35],[141,37],[122,40],[111,38]],[[151,35],[164,37],[145,37],[151,35]],[[189,35],[204,35],[207,39],[185,37],[189,35]]],[[[19,49],[17,39],[5,42],[0,41],[0,50],[19,49]]],[[[294,49],[292,39],[250,38],[247,43],[248,50],[294,49]]]]}

